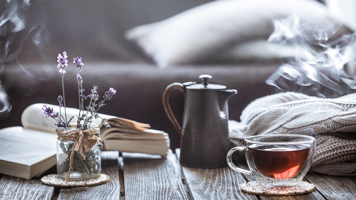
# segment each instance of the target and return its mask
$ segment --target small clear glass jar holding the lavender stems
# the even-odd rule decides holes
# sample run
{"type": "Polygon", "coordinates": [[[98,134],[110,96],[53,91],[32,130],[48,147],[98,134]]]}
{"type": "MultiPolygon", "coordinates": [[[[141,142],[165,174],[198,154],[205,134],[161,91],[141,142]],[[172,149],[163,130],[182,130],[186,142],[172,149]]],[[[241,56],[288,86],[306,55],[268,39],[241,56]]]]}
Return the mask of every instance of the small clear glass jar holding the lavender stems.
{"type": "MultiPolygon", "coordinates": [[[[68,131],[87,131],[88,129],[81,128],[78,130],[76,124],[70,124],[71,128],[59,127],[58,131],[64,133],[68,131]],[[73,127],[73,128],[72,128],[73,127]]],[[[97,125],[91,124],[90,128],[94,128],[95,132],[100,133],[97,125]]],[[[94,130],[93,130],[94,131],[94,130]]],[[[85,134],[82,140],[85,140],[85,134]]],[[[87,143],[86,143],[87,144],[87,143]]],[[[69,173],[68,180],[89,180],[98,178],[101,173],[101,151],[98,143],[95,143],[90,149],[81,144],[81,148],[74,150],[75,141],[57,141],[57,174],[60,178],[66,179],[70,168],[70,157],[72,156],[72,170],[69,173]],[[82,151],[83,154],[80,153],[82,151]],[[73,153],[73,155],[72,155],[73,153]],[[84,158],[85,157],[85,158],[84,158]]]]}

